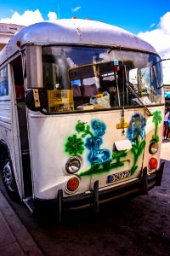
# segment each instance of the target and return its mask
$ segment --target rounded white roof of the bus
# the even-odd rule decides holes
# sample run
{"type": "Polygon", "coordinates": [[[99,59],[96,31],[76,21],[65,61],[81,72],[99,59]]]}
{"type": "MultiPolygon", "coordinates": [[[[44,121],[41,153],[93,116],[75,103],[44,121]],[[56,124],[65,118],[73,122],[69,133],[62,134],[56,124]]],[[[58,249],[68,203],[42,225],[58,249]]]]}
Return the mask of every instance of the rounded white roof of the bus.
{"type": "Polygon", "coordinates": [[[155,53],[150,44],[131,32],[101,21],[63,19],[39,22],[17,32],[0,52],[0,63],[7,60],[24,44],[86,44],[127,49],[139,49],[155,53]]]}

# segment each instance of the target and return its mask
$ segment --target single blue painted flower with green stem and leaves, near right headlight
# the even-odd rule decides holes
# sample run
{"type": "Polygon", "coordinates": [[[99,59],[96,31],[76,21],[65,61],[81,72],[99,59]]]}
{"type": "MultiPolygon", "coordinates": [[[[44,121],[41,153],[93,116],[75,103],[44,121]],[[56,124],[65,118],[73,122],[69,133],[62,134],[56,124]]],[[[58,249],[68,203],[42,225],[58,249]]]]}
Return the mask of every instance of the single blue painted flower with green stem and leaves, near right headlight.
{"type": "Polygon", "coordinates": [[[131,168],[131,174],[138,168],[139,155],[142,154],[145,146],[145,130],[146,125],[144,117],[140,113],[135,113],[127,128],[127,138],[132,142],[132,153],[133,153],[133,166],[131,168]],[[143,140],[144,139],[144,140],[143,140]]]}

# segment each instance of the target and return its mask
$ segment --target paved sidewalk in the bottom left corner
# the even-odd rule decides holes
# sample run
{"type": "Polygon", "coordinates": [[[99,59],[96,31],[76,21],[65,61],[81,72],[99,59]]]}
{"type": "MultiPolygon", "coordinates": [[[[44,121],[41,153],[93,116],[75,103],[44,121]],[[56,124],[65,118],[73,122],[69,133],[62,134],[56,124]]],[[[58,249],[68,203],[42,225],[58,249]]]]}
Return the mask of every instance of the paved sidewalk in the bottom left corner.
{"type": "Polygon", "coordinates": [[[43,253],[0,191],[0,255],[42,256],[43,253]]]}

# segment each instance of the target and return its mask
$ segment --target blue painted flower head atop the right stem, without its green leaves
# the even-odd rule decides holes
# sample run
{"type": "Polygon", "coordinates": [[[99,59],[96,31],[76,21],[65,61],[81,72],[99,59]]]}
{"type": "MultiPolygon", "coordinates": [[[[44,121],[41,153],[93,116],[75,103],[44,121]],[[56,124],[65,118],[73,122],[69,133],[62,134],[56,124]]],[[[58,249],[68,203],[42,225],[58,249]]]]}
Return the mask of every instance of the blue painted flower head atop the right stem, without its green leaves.
{"type": "Polygon", "coordinates": [[[131,142],[136,142],[138,137],[144,138],[144,126],[146,125],[144,117],[140,113],[135,113],[127,128],[127,138],[131,142]]]}

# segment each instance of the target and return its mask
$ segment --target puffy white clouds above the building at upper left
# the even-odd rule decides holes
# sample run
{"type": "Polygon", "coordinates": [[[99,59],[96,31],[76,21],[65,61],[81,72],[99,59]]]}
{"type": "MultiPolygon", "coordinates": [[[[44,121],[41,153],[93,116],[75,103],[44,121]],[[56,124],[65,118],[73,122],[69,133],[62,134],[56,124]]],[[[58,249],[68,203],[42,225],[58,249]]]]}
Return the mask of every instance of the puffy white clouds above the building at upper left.
{"type": "MultiPolygon", "coordinates": [[[[48,19],[57,20],[57,15],[54,12],[48,12],[48,19]]],[[[22,15],[15,11],[10,18],[0,20],[2,23],[12,23],[23,26],[29,26],[41,21],[44,21],[44,19],[38,9],[35,11],[26,10],[22,15]]]]}

